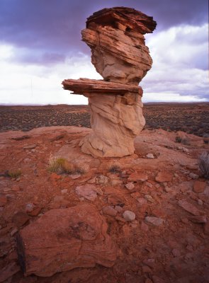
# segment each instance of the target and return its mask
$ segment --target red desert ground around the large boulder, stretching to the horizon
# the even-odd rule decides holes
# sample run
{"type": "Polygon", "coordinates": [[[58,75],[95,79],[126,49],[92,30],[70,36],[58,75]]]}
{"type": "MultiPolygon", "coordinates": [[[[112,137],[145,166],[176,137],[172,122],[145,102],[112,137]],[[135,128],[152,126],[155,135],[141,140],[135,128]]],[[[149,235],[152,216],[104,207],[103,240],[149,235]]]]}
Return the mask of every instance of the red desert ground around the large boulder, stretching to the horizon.
{"type": "MultiPolygon", "coordinates": [[[[209,150],[208,103],[145,105],[147,125],[135,138],[135,154],[123,158],[81,152],[79,141],[91,132],[88,106],[1,106],[0,112],[0,282],[209,282],[209,181],[198,161],[209,150]],[[54,156],[80,172],[49,172],[54,156]],[[79,193],[81,186],[91,200],[79,193]],[[84,204],[106,222],[116,250],[113,266],[98,264],[101,250],[94,267],[42,277],[37,274],[45,263],[39,262],[24,277],[17,235],[52,209],[84,204]],[[127,210],[135,214],[132,221],[123,217],[127,210]]],[[[39,242],[39,231],[32,238],[39,242]]],[[[76,253],[72,258],[79,262],[76,253]]],[[[53,268],[59,270],[59,262],[53,268]]]]}

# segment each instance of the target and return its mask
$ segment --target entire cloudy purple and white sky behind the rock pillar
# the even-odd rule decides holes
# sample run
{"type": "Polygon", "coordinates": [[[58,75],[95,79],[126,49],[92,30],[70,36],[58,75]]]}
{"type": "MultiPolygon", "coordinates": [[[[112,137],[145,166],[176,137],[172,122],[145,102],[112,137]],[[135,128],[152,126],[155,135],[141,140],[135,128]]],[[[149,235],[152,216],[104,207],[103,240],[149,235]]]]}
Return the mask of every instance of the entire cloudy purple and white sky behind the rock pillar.
{"type": "Polygon", "coordinates": [[[0,0],[0,104],[84,104],[64,79],[101,79],[81,42],[86,18],[129,6],[153,16],[143,101],[209,101],[208,0],[0,0]]]}

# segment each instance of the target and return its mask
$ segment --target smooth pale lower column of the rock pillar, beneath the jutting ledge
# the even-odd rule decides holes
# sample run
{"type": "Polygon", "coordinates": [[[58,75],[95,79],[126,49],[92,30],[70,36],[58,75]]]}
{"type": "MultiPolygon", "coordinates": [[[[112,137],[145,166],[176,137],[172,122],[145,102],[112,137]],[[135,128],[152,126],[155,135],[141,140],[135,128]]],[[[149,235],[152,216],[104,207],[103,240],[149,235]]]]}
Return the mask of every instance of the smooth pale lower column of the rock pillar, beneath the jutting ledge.
{"type": "Polygon", "coordinates": [[[134,138],[145,125],[141,96],[91,93],[93,132],[81,141],[81,150],[94,157],[123,157],[134,153],[134,138]]]}

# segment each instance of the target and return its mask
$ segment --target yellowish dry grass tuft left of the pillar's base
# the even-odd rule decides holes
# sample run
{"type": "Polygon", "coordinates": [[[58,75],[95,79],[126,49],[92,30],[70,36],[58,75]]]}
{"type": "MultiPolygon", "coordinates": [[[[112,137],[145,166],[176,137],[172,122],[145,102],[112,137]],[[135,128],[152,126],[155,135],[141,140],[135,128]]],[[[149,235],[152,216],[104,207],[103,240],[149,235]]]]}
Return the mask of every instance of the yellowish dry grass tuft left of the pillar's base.
{"type": "Polygon", "coordinates": [[[49,172],[55,172],[57,174],[71,174],[74,172],[74,165],[69,163],[65,158],[50,156],[49,166],[47,170],[49,172]]]}

